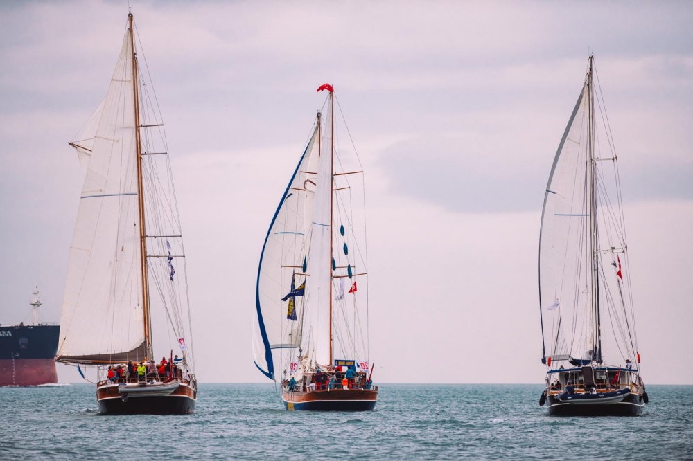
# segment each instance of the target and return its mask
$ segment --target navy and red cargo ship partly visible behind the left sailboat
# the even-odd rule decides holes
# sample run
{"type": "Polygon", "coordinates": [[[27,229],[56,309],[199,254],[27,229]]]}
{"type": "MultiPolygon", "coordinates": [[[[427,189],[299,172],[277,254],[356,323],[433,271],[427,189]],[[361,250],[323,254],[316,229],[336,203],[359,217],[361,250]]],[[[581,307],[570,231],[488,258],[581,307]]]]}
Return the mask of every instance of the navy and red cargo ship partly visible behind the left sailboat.
{"type": "Polygon", "coordinates": [[[60,326],[41,323],[34,291],[31,324],[0,325],[0,386],[40,386],[58,382],[55,352],[60,326]]]}

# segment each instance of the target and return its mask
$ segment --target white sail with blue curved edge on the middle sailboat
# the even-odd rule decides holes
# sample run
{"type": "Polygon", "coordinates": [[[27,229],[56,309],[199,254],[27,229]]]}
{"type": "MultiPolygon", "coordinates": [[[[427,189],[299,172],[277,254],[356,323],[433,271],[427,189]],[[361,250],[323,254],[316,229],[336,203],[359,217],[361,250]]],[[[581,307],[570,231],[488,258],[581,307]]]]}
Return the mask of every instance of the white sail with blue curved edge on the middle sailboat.
{"type": "Polygon", "coordinates": [[[288,312],[290,301],[282,298],[290,293],[292,278],[295,287],[307,278],[300,274],[304,273],[304,260],[307,261],[306,242],[313,218],[319,136],[316,125],[272,217],[258,266],[253,353],[256,366],[272,379],[272,350],[301,345],[304,296],[293,298],[292,307],[297,310],[293,316],[288,312]]]}

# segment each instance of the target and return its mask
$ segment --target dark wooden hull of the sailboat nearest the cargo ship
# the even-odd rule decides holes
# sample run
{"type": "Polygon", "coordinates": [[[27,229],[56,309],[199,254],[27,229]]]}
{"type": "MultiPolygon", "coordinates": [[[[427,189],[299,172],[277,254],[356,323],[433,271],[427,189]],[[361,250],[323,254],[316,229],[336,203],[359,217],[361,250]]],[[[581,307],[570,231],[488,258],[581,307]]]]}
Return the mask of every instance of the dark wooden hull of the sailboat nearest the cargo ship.
{"type": "Polygon", "coordinates": [[[182,383],[170,395],[124,397],[118,386],[100,386],[96,401],[100,415],[189,415],[195,411],[198,392],[182,383]]]}

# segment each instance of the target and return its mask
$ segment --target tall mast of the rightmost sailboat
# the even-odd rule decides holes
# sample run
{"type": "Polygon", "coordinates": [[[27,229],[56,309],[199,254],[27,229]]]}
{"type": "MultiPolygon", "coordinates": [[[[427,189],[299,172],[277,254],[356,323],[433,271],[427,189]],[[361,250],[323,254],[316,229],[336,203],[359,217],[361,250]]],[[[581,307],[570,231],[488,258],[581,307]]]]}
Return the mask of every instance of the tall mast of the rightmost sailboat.
{"type": "Polygon", "coordinates": [[[593,308],[593,340],[594,348],[593,359],[597,363],[602,363],[602,319],[599,306],[599,241],[597,239],[597,194],[596,194],[596,175],[595,175],[595,118],[594,118],[594,80],[593,80],[593,60],[594,55],[590,54],[590,70],[588,73],[588,155],[590,173],[590,260],[592,262],[592,308],[593,308]]]}

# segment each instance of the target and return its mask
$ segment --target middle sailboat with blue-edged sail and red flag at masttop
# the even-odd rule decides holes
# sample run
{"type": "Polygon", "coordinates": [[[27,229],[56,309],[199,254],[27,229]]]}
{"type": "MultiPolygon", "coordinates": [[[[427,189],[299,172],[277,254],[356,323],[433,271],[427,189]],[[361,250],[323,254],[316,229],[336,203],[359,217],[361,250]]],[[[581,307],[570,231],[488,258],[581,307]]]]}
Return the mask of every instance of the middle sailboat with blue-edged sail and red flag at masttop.
{"type": "Polygon", "coordinates": [[[373,410],[363,169],[355,148],[337,145],[333,87],[317,91],[328,92],[324,110],[258,264],[255,365],[281,386],[287,410],[373,410]]]}

